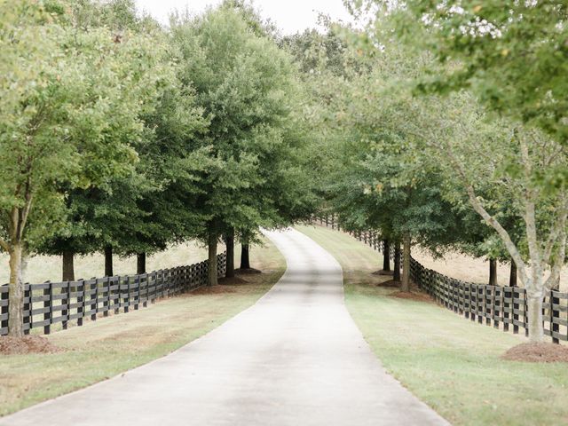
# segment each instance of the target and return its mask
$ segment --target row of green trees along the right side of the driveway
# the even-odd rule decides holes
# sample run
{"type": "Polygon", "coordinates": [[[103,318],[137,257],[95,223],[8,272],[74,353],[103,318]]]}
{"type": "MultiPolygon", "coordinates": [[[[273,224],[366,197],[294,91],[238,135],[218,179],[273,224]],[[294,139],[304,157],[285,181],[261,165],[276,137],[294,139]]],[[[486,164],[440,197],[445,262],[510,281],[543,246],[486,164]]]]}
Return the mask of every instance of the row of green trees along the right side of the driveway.
{"type": "Polygon", "coordinates": [[[365,30],[304,35],[320,52],[305,78],[323,109],[327,208],[403,246],[403,290],[414,243],[486,256],[493,272],[509,261],[542,341],[566,260],[565,4],[347,4],[365,30]]]}

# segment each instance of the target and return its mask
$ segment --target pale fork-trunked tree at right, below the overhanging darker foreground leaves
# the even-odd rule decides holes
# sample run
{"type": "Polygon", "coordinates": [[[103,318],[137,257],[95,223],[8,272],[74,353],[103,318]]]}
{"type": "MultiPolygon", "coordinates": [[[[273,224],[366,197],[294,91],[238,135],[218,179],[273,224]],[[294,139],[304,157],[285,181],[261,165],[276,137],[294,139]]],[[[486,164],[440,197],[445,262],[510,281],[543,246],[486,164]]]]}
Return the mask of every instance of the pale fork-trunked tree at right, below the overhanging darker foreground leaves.
{"type": "Polygon", "coordinates": [[[428,145],[446,154],[446,173],[459,178],[470,204],[498,233],[517,265],[518,277],[528,296],[529,337],[533,342],[541,342],[544,338],[542,301],[551,288],[559,285],[565,262],[568,216],[564,184],[546,185],[542,177],[548,167],[568,167],[568,157],[554,139],[539,130],[526,130],[517,123],[510,123],[509,127],[501,123],[510,133],[495,143],[493,126],[492,134],[479,130],[486,126],[485,115],[478,111],[465,114],[464,109],[454,110],[454,113],[446,111],[447,117],[459,125],[451,138],[447,135],[440,138],[439,134],[429,136],[428,145]],[[455,114],[457,111],[459,115],[455,114]],[[488,152],[491,156],[484,155],[488,152]],[[477,195],[480,181],[500,188],[500,193],[506,193],[513,201],[514,211],[525,225],[524,240],[516,241],[516,226],[508,226],[503,220],[493,198],[477,195]],[[527,264],[525,258],[530,263],[527,264]]]}

